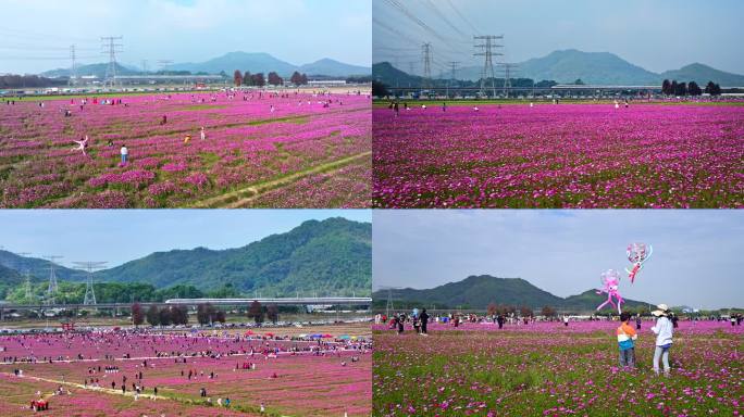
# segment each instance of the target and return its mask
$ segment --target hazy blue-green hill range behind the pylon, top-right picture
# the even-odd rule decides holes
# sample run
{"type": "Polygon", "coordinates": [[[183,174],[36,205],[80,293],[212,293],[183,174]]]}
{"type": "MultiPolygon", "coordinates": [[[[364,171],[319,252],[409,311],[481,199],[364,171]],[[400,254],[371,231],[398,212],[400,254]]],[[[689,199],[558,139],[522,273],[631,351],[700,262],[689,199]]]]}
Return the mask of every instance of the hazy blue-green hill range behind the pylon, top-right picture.
{"type": "MultiPolygon", "coordinates": [[[[390,70],[390,67],[389,64],[374,64],[372,72],[375,79],[388,86],[395,86],[396,79],[407,79],[407,81],[414,81],[414,86],[420,85],[421,77],[407,78],[407,76],[410,77],[408,74],[397,68],[390,70]]],[[[700,86],[705,86],[710,80],[721,87],[744,86],[744,75],[726,73],[699,63],[657,74],[633,65],[613,53],[584,52],[575,49],[554,51],[545,56],[518,63],[517,67],[519,77],[531,78],[535,81],[555,80],[560,84],[572,84],[581,79],[584,84],[598,85],[661,85],[661,81],[668,78],[684,83],[694,80],[700,86]]],[[[464,66],[458,70],[458,78],[478,80],[481,77],[481,65],[464,66]]],[[[503,73],[497,73],[495,76],[499,78],[503,73]]]]}

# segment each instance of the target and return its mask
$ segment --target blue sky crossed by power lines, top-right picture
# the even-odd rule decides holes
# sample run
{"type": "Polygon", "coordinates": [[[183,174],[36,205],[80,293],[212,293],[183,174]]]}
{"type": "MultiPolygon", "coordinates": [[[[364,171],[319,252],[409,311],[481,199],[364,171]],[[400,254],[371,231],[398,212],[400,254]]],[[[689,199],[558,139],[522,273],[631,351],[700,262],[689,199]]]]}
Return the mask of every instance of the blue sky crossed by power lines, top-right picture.
{"type": "MultiPolygon", "coordinates": [[[[741,24],[744,1],[406,0],[400,3],[444,38],[417,26],[387,0],[375,0],[375,21],[397,33],[377,24],[373,26],[373,61],[397,59],[406,71],[408,62],[416,61],[414,71],[421,72],[420,43],[423,41],[433,43],[435,64],[448,61],[462,61],[462,66],[473,64],[472,35],[478,29],[505,36],[507,62],[522,62],[560,49],[580,49],[612,52],[657,73],[700,62],[744,74],[744,54],[740,53],[744,39],[741,24]]],[[[435,65],[434,74],[438,70],[435,65]]]]}

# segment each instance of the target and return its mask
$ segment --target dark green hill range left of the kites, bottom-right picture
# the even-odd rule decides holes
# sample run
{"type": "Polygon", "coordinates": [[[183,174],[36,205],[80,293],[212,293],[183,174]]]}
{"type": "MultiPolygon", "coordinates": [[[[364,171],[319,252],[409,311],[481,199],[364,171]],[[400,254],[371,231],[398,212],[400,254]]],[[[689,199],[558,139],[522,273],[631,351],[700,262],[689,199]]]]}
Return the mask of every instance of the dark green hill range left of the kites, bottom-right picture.
{"type": "MultiPolygon", "coordinates": [[[[419,306],[435,305],[437,308],[475,308],[485,309],[489,303],[522,306],[535,309],[549,305],[562,311],[594,311],[607,295],[598,295],[595,290],[562,299],[541,290],[521,278],[497,278],[489,275],[470,276],[458,282],[425,290],[411,288],[390,290],[393,300],[419,306]]],[[[388,290],[379,290],[372,294],[376,305],[385,302],[388,290]]],[[[646,303],[625,300],[629,307],[646,305],[646,303]]]]}

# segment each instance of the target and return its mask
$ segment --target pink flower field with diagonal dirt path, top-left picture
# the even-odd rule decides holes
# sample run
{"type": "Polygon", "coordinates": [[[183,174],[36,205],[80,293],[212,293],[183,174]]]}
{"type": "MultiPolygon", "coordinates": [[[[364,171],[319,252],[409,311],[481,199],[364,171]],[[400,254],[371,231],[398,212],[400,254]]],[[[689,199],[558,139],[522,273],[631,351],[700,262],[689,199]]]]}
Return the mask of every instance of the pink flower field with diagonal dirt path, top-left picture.
{"type": "Polygon", "coordinates": [[[103,98],[88,98],[85,105],[82,100],[0,105],[0,207],[371,205],[365,94],[221,91],[106,99],[114,105],[102,104],[103,98]],[[86,135],[84,155],[73,141],[86,135]],[[123,144],[126,164],[120,162],[123,144]]]}

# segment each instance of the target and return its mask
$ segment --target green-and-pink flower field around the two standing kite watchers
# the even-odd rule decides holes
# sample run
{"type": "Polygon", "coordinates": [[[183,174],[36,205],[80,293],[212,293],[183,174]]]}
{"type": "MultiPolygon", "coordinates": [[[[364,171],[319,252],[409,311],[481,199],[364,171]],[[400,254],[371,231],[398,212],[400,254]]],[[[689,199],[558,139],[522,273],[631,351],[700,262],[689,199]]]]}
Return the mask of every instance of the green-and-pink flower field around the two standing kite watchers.
{"type": "Polygon", "coordinates": [[[375,326],[372,415],[742,415],[741,326],[680,321],[665,378],[652,370],[649,323],[636,370],[618,368],[618,325],[433,325],[429,337],[375,326]]]}

